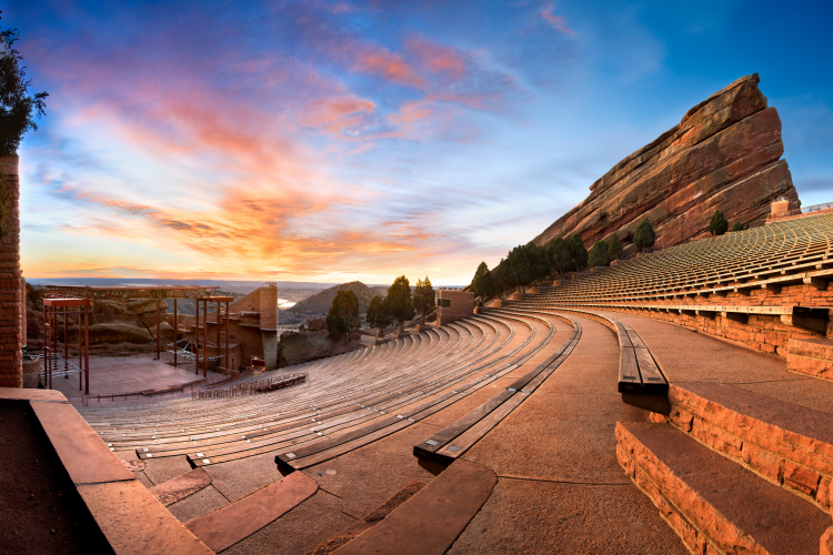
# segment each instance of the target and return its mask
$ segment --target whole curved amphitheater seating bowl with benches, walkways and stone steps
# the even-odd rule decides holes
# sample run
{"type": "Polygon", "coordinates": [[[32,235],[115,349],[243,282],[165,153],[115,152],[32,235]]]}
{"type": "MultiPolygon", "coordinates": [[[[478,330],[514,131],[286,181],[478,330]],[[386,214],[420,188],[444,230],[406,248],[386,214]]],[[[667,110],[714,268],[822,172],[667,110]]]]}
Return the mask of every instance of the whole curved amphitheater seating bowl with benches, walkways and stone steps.
{"type": "Polygon", "coordinates": [[[0,397],[116,553],[832,555],[831,208],[441,303],[227,395],[0,397]]]}

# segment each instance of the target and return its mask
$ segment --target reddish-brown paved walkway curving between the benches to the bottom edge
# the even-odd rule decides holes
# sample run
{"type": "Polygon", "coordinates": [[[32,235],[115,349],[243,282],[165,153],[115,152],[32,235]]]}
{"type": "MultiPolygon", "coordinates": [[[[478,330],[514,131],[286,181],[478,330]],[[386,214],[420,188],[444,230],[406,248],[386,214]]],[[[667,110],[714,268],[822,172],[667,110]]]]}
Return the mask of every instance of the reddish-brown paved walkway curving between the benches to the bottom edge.
{"type": "Polygon", "coordinates": [[[570,316],[583,326],[570,357],[464,456],[499,480],[450,554],[688,554],[616,463],[616,421],[648,416],[616,392],[619,342],[570,316]]]}

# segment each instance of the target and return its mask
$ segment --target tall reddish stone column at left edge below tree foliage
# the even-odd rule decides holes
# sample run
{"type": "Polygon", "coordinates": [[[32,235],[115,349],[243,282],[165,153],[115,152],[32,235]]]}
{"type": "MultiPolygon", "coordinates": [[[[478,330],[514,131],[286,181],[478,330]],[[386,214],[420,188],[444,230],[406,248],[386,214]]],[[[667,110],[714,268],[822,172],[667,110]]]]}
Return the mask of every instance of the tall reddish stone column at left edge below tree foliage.
{"type": "Polygon", "coordinates": [[[18,162],[17,154],[0,158],[0,387],[23,386],[18,162]]]}

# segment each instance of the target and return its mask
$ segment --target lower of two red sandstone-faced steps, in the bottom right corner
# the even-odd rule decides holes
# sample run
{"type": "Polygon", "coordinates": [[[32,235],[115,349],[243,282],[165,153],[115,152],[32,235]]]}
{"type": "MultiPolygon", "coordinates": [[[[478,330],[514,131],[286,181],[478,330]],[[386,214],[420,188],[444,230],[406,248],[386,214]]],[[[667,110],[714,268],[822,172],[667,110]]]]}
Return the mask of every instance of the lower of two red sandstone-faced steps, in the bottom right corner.
{"type": "Polygon", "coordinates": [[[616,457],[692,553],[815,555],[829,543],[830,515],[673,426],[618,423],[616,457]]]}

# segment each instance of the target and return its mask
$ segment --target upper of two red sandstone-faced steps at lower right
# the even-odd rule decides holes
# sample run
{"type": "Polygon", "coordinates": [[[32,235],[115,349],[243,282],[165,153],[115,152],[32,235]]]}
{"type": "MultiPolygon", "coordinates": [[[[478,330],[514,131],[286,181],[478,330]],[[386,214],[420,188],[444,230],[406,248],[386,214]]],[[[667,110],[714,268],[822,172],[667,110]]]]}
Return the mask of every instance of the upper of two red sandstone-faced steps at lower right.
{"type": "Polygon", "coordinates": [[[830,512],[833,414],[711,382],[671,384],[669,402],[671,424],[830,512]]]}

